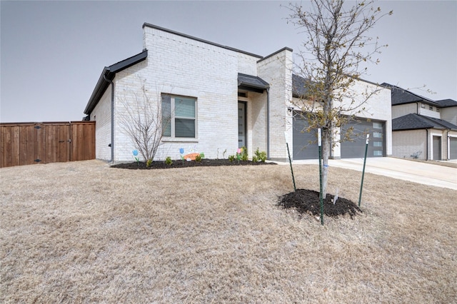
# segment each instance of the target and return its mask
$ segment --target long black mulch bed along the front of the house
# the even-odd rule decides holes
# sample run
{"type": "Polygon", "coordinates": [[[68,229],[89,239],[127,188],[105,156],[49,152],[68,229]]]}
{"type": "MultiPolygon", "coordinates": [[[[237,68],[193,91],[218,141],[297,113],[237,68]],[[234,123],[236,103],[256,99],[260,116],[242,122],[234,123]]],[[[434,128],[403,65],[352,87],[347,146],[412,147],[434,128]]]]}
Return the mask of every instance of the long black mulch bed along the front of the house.
{"type": "Polygon", "coordinates": [[[111,168],[122,169],[171,169],[171,168],[189,168],[189,167],[214,167],[214,166],[260,166],[260,165],[276,165],[276,163],[262,163],[258,161],[229,161],[228,159],[202,159],[201,161],[172,161],[169,165],[164,161],[153,161],[151,166],[146,167],[146,163],[119,163],[111,166],[111,168]]]}

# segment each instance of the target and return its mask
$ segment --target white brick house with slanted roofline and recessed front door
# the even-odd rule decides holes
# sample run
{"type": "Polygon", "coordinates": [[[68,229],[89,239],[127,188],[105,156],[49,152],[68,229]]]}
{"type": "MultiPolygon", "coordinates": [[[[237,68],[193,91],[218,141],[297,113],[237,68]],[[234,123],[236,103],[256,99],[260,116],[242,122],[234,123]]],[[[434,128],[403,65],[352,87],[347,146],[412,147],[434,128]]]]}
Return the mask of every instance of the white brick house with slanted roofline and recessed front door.
{"type": "MultiPolygon", "coordinates": [[[[303,122],[293,117],[299,78],[292,73],[292,49],[263,57],[151,24],[143,31],[144,51],[104,68],[84,110],[87,120],[96,121],[96,158],[132,161],[135,146],[120,121],[124,105],[134,106],[143,87],[171,117],[156,160],[178,159],[179,148],[223,158],[246,146],[249,156],[258,148],[269,159],[285,161],[286,140],[294,159],[318,158],[313,149],[303,149],[309,134],[300,132],[303,122]]],[[[353,86],[367,88],[376,85],[357,81],[353,86]]],[[[371,156],[391,154],[390,106],[386,88],[366,103],[361,120],[378,136],[371,156]]],[[[336,144],[331,156],[360,157],[360,147],[336,144]]]]}

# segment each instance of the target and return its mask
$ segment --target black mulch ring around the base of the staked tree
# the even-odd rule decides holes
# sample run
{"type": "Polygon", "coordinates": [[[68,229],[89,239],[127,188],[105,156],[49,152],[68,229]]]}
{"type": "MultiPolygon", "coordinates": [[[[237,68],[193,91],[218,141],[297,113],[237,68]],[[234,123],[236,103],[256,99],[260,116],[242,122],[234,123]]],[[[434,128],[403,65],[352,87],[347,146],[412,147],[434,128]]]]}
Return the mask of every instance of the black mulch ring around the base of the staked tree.
{"type": "MultiPolygon", "coordinates": [[[[346,198],[338,197],[333,205],[333,196],[327,194],[323,200],[323,214],[325,216],[343,216],[349,214],[351,218],[357,212],[362,212],[358,206],[346,198]]],[[[310,214],[313,216],[321,216],[321,205],[319,201],[319,193],[308,189],[297,189],[295,192],[287,193],[278,198],[278,206],[288,209],[294,208],[298,213],[310,214]]]]}

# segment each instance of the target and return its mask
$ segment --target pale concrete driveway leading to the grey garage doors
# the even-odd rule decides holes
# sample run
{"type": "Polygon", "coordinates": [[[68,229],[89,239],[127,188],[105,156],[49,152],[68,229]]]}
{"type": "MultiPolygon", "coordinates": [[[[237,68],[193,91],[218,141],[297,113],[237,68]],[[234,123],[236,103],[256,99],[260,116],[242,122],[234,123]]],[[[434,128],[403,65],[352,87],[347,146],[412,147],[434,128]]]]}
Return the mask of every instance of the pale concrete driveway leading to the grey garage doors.
{"type": "MultiPolygon", "coordinates": [[[[288,163],[278,164],[288,165],[288,163]]],[[[299,164],[318,165],[318,160],[292,162],[292,165],[299,164]]],[[[328,160],[328,166],[362,171],[363,158],[330,159],[328,160]]],[[[365,172],[457,190],[457,168],[408,161],[400,158],[378,157],[366,159],[365,172]]]]}

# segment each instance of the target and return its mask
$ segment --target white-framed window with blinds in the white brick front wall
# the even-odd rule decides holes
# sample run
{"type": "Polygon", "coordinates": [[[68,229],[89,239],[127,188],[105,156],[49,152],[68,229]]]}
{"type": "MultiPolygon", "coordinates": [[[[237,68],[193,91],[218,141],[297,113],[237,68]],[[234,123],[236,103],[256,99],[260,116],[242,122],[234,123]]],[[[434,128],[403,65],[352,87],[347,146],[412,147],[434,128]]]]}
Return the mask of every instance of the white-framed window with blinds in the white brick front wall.
{"type": "Polygon", "coordinates": [[[196,138],[196,112],[196,98],[162,94],[162,135],[196,138]]]}

